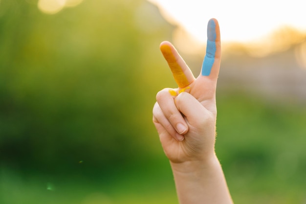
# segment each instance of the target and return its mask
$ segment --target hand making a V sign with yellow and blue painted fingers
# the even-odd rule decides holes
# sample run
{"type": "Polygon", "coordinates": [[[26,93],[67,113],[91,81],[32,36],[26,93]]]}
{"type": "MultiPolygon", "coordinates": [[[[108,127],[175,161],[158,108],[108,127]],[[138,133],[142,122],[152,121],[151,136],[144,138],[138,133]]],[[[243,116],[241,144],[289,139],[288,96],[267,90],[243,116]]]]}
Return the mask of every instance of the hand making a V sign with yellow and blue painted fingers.
{"type": "Polygon", "coordinates": [[[221,57],[219,23],[215,19],[208,22],[206,56],[197,78],[173,45],[162,42],[160,50],[178,85],[159,91],[153,107],[153,123],[164,152],[174,163],[211,158],[215,155],[221,57]]]}

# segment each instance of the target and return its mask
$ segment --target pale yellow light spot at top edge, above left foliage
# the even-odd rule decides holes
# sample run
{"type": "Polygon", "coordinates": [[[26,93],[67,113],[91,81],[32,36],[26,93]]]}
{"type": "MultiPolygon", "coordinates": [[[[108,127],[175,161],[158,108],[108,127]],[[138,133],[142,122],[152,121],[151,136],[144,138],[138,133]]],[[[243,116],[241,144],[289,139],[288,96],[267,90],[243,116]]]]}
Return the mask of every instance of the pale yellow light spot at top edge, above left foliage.
{"type": "Polygon", "coordinates": [[[65,7],[74,7],[83,0],[39,0],[38,8],[46,14],[56,14],[65,7]]]}

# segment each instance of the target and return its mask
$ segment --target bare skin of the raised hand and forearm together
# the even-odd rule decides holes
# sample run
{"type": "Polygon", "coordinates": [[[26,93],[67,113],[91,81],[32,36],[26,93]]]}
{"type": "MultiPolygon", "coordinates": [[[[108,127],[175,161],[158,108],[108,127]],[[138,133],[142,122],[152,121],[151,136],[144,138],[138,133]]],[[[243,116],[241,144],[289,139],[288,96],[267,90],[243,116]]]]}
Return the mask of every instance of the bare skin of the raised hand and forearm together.
{"type": "Polygon", "coordinates": [[[207,34],[214,46],[207,46],[202,68],[211,70],[206,74],[201,71],[197,78],[171,43],[160,45],[178,88],[157,93],[153,123],[170,160],[180,204],[233,203],[215,154],[216,87],[221,58],[216,19],[209,21],[207,34]],[[214,30],[211,25],[215,25],[214,30]]]}

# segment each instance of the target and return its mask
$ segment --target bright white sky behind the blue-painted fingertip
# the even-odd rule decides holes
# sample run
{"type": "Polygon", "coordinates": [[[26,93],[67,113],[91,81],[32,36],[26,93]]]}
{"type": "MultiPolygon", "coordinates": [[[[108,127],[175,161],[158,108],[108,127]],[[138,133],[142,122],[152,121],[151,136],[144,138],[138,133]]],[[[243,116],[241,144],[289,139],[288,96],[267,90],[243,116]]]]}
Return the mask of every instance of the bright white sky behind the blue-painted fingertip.
{"type": "Polygon", "coordinates": [[[149,0],[171,23],[206,42],[209,19],[219,21],[221,39],[247,43],[284,26],[306,32],[304,0],[149,0]]]}

